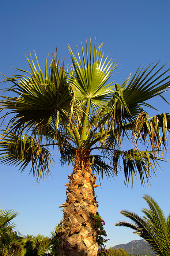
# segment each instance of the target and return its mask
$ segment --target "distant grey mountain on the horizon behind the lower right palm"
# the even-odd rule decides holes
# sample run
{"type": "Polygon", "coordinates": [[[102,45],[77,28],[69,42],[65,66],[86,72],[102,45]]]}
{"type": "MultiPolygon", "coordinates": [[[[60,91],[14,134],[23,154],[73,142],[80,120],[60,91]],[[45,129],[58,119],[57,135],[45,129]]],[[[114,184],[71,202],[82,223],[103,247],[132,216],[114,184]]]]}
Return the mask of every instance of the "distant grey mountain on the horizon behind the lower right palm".
{"type": "Polygon", "coordinates": [[[155,253],[150,249],[150,245],[144,239],[133,240],[127,244],[118,244],[113,248],[122,248],[125,249],[128,254],[131,255],[151,255],[155,256],[155,253]]]}

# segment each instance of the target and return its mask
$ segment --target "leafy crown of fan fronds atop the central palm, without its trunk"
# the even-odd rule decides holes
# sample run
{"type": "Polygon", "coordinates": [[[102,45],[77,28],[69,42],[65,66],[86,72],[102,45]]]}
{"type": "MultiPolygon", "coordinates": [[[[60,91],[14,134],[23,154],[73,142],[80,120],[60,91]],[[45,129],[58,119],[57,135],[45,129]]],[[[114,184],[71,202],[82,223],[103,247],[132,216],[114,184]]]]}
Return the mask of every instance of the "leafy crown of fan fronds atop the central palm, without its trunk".
{"type": "MultiPolygon", "coordinates": [[[[108,56],[104,58],[102,45],[98,49],[94,46],[92,54],[90,44],[90,56],[87,46],[86,54],[82,46],[83,63],[79,52],[76,59],[69,47],[73,67],[67,70],[63,62],[59,65],[55,55],[48,69],[47,58],[45,75],[38,60],[37,70],[30,55],[32,64],[28,57],[27,60],[31,73],[18,69],[26,75],[4,80],[14,83],[7,91],[18,96],[3,96],[1,101],[1,109],[11,109],[5,116],[14,115],[3,131],[2,163],[9,163],[10,158],[12,164],[21,164],[24,169],[32,162],[31,170],[40,180],[48,174],[52,161],[49,145],[58,146],[61,163],[72,162],[76,148],[86,147],[100,151],[99,155],[90,155],[92,167],[98,173],[108,176],[116,173],[118,159],[122,157],[125,182],[130,176],[133,178],[133,174],[136,176],[136,170],[141,184],[144,174],[148,181],[150,170],[154,172],[153,167],[160,158],[150,151],[140,151],[136,142],[150,140],[154,152],[166,146],[169,114],[150,118],[143,106],[152,107],[146,101],[167,90],[170,76],[165,77],[165,74],[169,69],[159,74],[164,66],[155,71],[156,63],[145,69],[139,68],[121,86],[107,84],[117,64],[107,61],[108,56]],[[159,128],[162,128],[161,135],[159,128]],[[136,147],[122,151],[122,139],[126,136],[131,140],[131,134],[136,147]]],[[[35,57],[37,59],[36,54],[35,57]]]]}

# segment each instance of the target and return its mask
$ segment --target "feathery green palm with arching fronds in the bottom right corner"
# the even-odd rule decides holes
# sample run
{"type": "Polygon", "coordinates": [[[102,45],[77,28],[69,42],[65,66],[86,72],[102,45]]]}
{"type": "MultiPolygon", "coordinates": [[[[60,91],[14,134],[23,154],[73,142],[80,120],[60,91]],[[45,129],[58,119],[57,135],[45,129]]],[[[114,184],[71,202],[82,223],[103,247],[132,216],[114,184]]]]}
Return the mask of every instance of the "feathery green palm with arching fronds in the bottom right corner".
{"type": "Polygon", "coordinates": [[[153,251],[161,256],[169,256],[170,254],[170,214],[167,219],[162,209],[156,201],[148,195],[143,196],[149,209],[142,208],[142,212],[146,215],[140,217],[134,212],[120,211],[122,215],[130,218],[133,223],[119,221],[115,225],[121,227],[131,227],[135,230],[133,233],[143,237],[150,244],[153,251]]]}

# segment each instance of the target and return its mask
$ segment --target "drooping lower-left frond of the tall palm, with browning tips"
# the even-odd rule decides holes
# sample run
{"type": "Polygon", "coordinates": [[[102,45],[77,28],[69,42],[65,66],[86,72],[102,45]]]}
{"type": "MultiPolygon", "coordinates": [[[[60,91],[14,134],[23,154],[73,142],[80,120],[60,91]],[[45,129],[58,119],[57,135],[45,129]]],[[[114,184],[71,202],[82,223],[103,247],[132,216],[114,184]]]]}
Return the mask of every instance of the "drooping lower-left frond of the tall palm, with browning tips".
{"type": "Polygon", "coordinates": [[[30,173],[33,172],[37,181],[49,175],[51,161],[50,151],[30,136],[20,138],[11,132],[0,141],[0,163],[20,165],[22,171],[31,163],[30,173]]]}

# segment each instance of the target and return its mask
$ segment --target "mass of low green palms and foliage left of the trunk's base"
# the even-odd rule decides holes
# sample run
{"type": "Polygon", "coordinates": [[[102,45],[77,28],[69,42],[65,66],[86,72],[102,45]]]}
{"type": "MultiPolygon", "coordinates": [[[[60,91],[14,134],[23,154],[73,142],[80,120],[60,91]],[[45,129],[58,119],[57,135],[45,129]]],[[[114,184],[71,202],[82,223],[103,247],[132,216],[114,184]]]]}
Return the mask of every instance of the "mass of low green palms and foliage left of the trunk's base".
{"type": "MultiPolygon", "coordinates": [[[[12,220],[18,215],[14,210],[0,208],[0,256],[45,256],[51,249],[52,239],[38,236],[22,236],[12,220]]],[[[55,255],[54,255],[55,256],[55,255]]]]}

